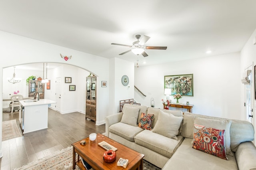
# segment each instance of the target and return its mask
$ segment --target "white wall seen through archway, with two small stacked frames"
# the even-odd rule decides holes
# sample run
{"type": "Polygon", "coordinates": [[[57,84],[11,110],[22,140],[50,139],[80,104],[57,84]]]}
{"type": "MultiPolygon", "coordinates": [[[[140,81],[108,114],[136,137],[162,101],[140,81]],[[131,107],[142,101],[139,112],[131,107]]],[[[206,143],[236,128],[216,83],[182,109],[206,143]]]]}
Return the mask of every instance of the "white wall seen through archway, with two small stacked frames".
{"type": "MultiPolygon", "coordinates": [[[[48,70],[48,79],[50,82],[50,89],[46,89],[45,85],[45,99],[56,101],[55,80],[61,78],[61,108],[60,113],[81,112],[85,114],[85,98],[86,98],[86,76],[89,72],[79,67],[72,65],[62,65],[60,67],[48,70]],[[72,83],[65,83],[65,77],[71,77],[72,83]],[[76,91],[69,91],[69,85],[76,85],[76,91]]],[[[55,104],[51,107],[55,109],[55,104]]]]}

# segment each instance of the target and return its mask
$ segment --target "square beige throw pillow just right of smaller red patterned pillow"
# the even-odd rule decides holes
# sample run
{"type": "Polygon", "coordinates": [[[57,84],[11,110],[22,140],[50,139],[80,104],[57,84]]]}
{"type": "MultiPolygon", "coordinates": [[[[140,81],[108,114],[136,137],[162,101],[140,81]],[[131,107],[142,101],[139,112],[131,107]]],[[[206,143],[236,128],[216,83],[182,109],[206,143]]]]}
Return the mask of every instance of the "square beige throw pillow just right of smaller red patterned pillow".
{"type": "Polygon", "coordinates": [[[159,111],[158,121],[152,132],[162,134],[169,138],[178,140],[179,128],[183,117],[176,117],[170,113],[159,111]]]}

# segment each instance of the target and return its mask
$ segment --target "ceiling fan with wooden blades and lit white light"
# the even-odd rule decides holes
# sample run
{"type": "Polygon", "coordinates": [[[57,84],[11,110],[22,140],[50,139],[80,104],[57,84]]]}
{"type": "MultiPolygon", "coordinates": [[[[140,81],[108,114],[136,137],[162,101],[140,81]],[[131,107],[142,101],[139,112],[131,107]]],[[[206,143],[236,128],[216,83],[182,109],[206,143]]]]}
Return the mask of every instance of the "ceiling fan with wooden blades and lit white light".
{"type": "Polygon", "coordinates": [[[111,43],[112,45],[122,45],[122,46],[126,46],[126,47],[132,47],[133,49],[130,49],[128,51],[125,51],[123,53],[120,53],[119,55],[123,55],[125,53],[128,53],[130,51],[132,51],[134,54],[136,55],[140,55],[142,54],[144,57],[147,57],[148,54],[145,52],[144,49],[167,49],[167,47],[158,47],[158,46],[144,46],[144,44],[150,39],[149,36],[143,36],[140,39],[140,35],[136,35],[135,38],[137,39],[136,42],[133,42],[132,45],[125,45],[125,44],[120,44],[120,43],[111,43]]]}

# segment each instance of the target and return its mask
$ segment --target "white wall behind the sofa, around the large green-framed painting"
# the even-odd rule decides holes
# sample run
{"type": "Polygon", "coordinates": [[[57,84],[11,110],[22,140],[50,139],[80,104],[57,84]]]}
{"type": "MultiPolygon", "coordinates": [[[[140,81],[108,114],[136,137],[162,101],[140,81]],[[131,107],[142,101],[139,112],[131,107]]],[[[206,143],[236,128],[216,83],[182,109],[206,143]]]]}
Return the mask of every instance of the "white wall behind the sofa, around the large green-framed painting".
{"type": "MultiPolygon", "coordinates": [[[[135,90],[134,98],[148,107],[150,99],[154,98],[155,107],[163,108],[164,76],[180,74],[194,76],[194,97],[179,100],[194,105],[193,113],[240,119],[240,53],[135,68],[135,86],[146,97],[135,90]]],[[[173,96],[170,99],[176,103],[173,96]]]]}

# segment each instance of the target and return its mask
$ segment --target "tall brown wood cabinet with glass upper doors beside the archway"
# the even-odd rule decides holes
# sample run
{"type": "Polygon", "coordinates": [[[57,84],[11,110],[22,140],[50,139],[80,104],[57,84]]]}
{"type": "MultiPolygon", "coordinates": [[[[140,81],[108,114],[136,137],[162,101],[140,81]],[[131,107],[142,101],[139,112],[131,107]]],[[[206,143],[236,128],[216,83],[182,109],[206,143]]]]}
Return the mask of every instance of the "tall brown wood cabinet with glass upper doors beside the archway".
{"type": "Polygon", "coordinates": [[[96,121],[97,77],[86,77],[86,119],[96,121]]]}

